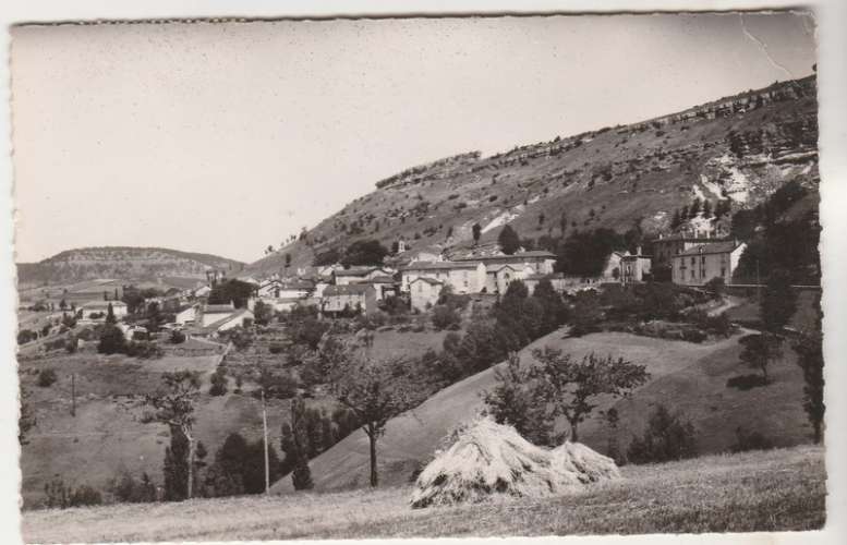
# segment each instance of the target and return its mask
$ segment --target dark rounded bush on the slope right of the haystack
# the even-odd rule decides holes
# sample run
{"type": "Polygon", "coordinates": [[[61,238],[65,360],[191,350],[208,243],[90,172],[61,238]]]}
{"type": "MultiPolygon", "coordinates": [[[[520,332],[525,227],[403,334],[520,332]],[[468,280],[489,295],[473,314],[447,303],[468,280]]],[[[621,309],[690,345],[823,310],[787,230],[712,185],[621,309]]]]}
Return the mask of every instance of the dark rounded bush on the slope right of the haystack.
{"type": "Polygon", "coordinates": [[[693,458],[698,453],[694,426],[679,414],[670,414],[663,404],[650,416],[642,437],[629,445],[627,458],[632,463],[656,463],[693,458]]]}

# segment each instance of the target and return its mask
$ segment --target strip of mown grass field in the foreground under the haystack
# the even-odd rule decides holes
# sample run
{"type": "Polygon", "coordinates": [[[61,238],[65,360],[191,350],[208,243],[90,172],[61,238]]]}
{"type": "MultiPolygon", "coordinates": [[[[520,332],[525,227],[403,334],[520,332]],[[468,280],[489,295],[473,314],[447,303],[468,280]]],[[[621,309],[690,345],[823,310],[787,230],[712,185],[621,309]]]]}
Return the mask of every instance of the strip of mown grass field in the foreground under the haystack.
{"type": "Polygon", "coordinates": [[[823,526],[823,449],[626,467],[624,479],[545,500],[410,509],[411,488],[24,513],[32,543],[699,533],[823,526]]]}

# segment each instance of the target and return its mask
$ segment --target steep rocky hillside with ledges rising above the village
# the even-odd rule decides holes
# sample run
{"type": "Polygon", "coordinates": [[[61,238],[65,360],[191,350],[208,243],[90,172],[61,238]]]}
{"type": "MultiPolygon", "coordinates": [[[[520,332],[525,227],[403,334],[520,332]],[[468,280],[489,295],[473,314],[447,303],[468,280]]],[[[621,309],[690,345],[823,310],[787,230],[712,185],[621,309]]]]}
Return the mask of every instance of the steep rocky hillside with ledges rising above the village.
{"type": "Polygon", "coordinates": [[[775,83],[641,123],[556,136],[491,157],[464,153],[376,182],[300,238],[251,264],[279,271],[365,238],[390,247],[491,245],[506,223],[523,239],[597,227],[667,231],[693,198],[749,208],[788,180],[815,185],[814,76],[775,83]]]}

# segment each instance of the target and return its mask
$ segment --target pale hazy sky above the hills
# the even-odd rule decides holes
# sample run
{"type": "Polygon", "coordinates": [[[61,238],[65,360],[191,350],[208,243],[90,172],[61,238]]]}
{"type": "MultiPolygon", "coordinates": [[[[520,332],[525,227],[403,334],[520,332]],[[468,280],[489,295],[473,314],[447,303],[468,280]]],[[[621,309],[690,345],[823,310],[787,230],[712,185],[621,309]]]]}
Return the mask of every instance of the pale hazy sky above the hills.
{"type": "Polygon", "coordinates": [[[791,14],[17,27],[17,261],[254,261],[408,167],[808,75],[813,33],[791,14]]]}

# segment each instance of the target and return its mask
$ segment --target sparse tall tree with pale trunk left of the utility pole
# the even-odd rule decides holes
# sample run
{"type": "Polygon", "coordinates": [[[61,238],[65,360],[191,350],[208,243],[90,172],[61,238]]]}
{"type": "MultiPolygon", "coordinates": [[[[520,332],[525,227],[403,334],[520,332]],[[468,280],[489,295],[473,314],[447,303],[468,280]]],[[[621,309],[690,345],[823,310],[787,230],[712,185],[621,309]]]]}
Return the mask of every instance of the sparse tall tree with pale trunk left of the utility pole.
{"type": "MultiPolygon", "coordinates": [[[[149,421],[166,424],[171,433],[171,464],[180,462],[180,437],[186,441],[187,474],[185,497],[191,498],[194,481],[194,401],[199,393],[199,374],[191,371],[166,372],[161,374],[161,387],[145,397],[146,404],[155,409],[149,421]]],[[[168,464],[166,449],[166,465],[168,464]]],[[[178,480],[178,483],[181,480],[178,480]]],[[[177,485],[178,483],[174,483],[177,485]]]]}

